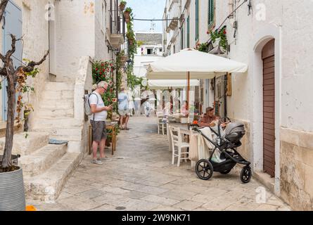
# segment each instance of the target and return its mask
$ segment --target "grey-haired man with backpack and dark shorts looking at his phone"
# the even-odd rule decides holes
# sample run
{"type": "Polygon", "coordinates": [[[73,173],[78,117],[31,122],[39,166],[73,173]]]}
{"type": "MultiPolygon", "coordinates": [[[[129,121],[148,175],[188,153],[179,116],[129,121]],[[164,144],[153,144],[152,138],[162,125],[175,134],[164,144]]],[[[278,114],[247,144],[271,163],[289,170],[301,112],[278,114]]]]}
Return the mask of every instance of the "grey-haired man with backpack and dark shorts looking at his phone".
{"type": "Polygon", "coordinates": [[[108,84],[106,82],[100,82],[96,86],[96,90],[92,92],[89,96],[89,103],[91,108],[91,127],[93,135],[93,158],[92,163],[97,165],[102,165],[102,161],[110,161],[109,158],[105,156],[104,148],[106,146],[106,117],[108,116],[108,111],[113,110],[113,106],[106,106],[103,103],[101,95],[103,95],[108,89],[108,84]],[[100,158],[97,158],[98,148],[100,148],[100,158]]]}

